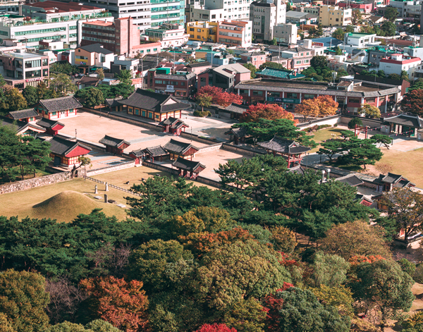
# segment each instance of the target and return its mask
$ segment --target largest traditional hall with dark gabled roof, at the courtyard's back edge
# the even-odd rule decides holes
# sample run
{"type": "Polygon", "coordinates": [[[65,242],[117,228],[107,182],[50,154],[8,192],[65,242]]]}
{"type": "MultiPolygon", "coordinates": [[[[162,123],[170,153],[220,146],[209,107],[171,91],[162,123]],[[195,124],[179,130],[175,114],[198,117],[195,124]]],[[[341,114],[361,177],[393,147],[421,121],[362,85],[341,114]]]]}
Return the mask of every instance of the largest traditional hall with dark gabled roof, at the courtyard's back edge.
{"type": "Polygon", "coordinates": [[[118,104],[121,104],[122,111],[128,114],[159,122],[170,117],[180,118],[182,110],[191,107],[173,96],[141,89],[135,90],[127,99],[118,101],[118,104]]]}

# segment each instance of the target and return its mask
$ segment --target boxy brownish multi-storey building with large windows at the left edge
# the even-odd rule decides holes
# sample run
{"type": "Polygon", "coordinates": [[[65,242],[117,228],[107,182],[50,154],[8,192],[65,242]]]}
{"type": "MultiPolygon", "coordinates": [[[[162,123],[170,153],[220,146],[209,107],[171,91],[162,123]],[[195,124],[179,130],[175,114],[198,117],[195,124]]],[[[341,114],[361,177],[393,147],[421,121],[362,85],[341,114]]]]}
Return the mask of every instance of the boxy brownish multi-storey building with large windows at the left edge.
{"type": "Polygon", "coordinates": [[[4,80],[19,90],[28,85],[36,87],[39,81],[49,77],[49,56],[16,51],[0,55],[4,80]]]}

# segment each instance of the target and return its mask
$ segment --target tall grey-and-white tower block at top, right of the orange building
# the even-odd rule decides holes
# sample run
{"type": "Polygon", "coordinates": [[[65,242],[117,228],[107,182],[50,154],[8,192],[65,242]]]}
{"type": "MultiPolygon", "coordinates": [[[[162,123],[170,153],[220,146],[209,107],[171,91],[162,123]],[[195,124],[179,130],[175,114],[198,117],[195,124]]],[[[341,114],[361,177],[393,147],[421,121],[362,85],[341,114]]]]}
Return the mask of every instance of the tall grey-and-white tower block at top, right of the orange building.
{"type": "Polygon", "coordinates": [[[254,1],[250,6],[252,33],[258,42],[274,38],[274,26],[286,22],[286,4],[282,0],[254,1]]]}

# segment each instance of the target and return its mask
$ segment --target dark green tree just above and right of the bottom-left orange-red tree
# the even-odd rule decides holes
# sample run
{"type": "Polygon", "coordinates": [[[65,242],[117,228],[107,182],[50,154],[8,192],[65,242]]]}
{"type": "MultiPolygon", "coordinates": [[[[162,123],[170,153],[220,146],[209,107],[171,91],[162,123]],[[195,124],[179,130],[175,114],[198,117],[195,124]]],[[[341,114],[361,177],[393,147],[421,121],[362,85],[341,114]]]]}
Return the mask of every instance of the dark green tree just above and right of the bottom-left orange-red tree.
{"type": "Polygon", "coordinates": [[[130,255],[128,276],[142,281],[147,292],[163,290],[167,285],[164,277],[167,264],[192,258],[191,252],[175,240],[151,240],[130,255]]]}

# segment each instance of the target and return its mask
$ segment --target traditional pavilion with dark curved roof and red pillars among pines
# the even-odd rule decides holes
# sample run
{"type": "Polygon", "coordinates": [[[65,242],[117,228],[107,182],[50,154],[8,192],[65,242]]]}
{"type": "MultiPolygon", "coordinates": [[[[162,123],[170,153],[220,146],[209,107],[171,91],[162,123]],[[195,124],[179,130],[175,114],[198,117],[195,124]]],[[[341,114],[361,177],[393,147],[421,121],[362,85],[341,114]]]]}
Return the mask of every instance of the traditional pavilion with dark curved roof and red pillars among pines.
{"type": "Polygon", "coordinates": [[[274,156],[276,154],[283,156],[288,163],[288,168],[295,166],[295,164],[301,164],[302,154],[311,150],[311,148],[304,147],[293,140],[285,140],[276,135],[268,142],[259,142],[257,145],[266,149],[268,153],[273,153],[274,156]]]}

